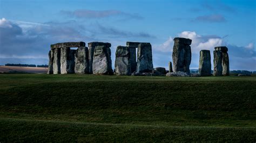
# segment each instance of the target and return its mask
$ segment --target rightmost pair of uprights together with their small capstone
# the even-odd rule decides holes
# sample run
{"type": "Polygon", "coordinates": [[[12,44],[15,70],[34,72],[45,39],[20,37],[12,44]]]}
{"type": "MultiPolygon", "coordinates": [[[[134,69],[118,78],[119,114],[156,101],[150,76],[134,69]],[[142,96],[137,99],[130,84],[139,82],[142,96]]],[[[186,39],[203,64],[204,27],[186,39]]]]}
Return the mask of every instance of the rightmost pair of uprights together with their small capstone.
{"type": "Polygon", "coordinates": [[[228,59],[228,49],[225,46],[215,47],[213,51],[213,75],[230,75],[230,62],[228,59]]]}

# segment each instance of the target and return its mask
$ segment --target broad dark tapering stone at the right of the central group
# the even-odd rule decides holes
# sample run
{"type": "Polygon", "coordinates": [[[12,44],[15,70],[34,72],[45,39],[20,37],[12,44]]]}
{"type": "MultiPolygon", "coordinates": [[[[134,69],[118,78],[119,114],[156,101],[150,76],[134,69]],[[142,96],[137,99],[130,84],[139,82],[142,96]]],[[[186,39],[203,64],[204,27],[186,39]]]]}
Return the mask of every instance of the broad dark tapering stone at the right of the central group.
{"type": "Polygon", "coordinates": [[[142,43],[138,46],[136,73],[151,73],[153,70],[152,47],[150,43],[142,43]]]}

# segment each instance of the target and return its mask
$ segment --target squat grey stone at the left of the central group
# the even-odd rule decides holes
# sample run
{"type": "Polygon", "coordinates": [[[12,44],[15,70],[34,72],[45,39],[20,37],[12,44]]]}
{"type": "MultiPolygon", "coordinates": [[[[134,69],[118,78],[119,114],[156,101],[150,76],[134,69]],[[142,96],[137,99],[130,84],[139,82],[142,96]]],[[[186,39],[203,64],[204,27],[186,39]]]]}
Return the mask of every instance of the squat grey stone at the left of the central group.
{"type": "Polygon", "coordinates": [[[116,61],[114,61],[114,70],[116,75],[131,75],[129,47],[117,47],[116,61]]]}

